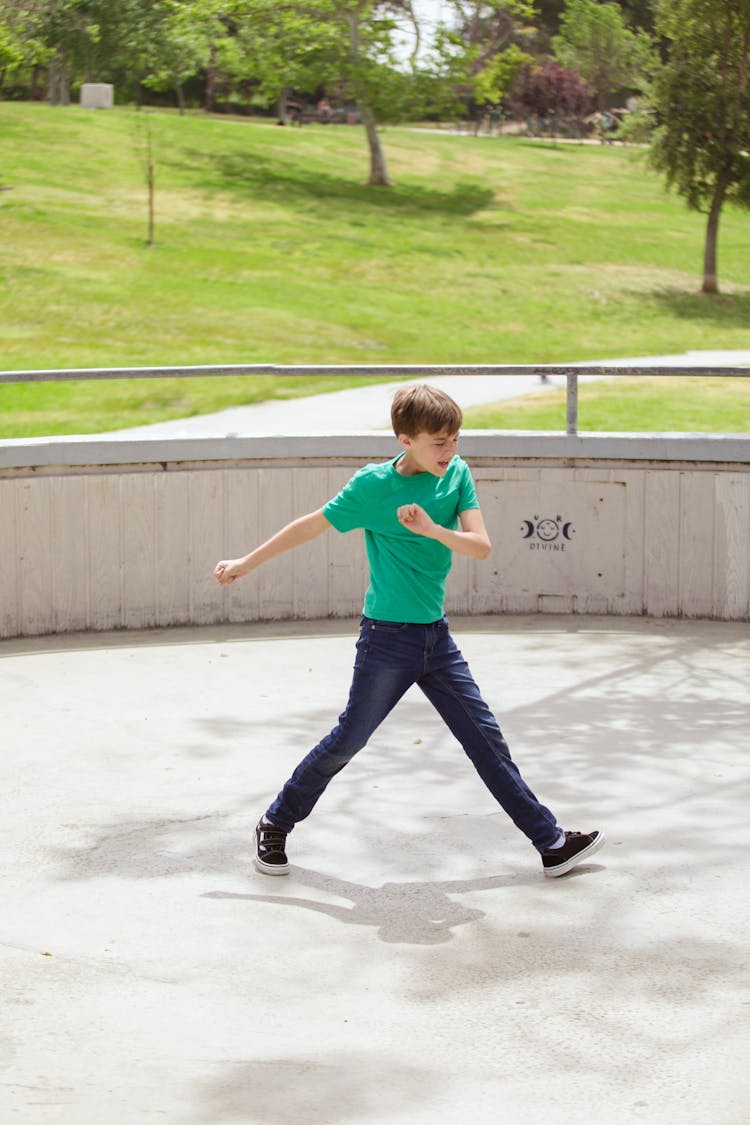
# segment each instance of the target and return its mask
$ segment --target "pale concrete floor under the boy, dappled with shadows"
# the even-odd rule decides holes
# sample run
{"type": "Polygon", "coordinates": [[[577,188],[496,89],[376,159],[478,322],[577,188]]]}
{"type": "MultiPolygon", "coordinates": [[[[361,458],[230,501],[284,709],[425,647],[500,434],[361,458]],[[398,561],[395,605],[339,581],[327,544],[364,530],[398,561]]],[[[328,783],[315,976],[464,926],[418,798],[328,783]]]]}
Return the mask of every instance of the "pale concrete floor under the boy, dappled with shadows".
{"type": "Polygon", "coordinates": [[[747,624],[453,626],[567,878],[418,692],[253,871],[352,622],[0,646],[0,1120],[744,1125],[747,624]]]}

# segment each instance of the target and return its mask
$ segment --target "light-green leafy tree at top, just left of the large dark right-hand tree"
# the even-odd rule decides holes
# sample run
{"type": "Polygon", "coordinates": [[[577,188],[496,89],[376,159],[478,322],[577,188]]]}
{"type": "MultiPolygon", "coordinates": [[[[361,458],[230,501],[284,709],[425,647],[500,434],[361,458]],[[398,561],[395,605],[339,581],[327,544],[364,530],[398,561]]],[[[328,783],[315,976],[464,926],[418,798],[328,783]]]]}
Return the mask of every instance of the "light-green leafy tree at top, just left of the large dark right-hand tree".
{"type": "Polygon", "coordinates": [[[650,37],[631,32],[615,3],[568,0],[552,47],[558,62],[587,82],[599,112],[613,93],[640,89],[652,69],[650,37]]]}

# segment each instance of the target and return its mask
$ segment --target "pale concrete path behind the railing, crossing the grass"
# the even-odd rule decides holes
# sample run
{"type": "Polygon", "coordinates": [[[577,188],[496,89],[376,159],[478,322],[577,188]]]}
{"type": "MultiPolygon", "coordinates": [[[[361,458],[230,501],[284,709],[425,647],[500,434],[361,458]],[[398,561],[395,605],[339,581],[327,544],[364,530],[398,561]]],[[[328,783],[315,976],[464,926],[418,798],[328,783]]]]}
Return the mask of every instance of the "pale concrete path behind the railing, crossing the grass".
{"type": "MultiPolygon", "coordinates": [[[[635,359],[597,360],[587,366],[611,367],[678,367],[678,366],[750,364],[749,351],[686,352],[683,356],[651,356],[635,359]]],[[[596,376],[581,376],[589,381],[596,376]]],[[[437,376],[430,382],[441,387],[466,410],[482,403],[499,402],[519,395],[544,394],[549,388],[536,376],[437,376]]],[[[235,406],[216,414],[177,418],[154,425],[134,426],[97,438],[189,438],[252,436],[254,434],[356,433],[362,430],[390,429],[390,403],[399,382],[371,384],[337,390],[327,395],[292,398],[286,402],[235,406]]],[[[564,386],[566,380],[552,377],[550,385],[564,386]]]]}

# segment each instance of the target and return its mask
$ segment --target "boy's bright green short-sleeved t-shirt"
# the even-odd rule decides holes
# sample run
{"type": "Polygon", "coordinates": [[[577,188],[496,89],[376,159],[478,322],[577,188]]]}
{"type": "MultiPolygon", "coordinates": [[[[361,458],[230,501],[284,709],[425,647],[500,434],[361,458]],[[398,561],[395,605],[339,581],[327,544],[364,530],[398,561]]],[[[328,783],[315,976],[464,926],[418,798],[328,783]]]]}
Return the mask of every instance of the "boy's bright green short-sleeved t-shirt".
{"type": "Polygon", "coordinates": [[[454,530],[459,514],[479,504],[469,466],[460,457],[453,458],[444,477],[403,476],[397,460],[365,465],[328,501],[323,514],[336,531],[364,530],[370,564],[365,616],[427,624],[444,613],[453,552],[404,528],[396,511],[403,504],[418,504],[435,523],[454,530]]]}

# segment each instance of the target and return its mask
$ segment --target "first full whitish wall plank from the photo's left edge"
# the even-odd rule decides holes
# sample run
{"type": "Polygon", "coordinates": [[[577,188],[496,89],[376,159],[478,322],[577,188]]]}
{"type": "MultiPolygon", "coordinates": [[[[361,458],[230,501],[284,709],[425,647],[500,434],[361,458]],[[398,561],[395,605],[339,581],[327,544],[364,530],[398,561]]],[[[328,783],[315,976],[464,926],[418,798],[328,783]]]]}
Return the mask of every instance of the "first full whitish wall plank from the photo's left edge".
{"type": "Polygon", "coordinates": [[[19,632],[54,630],[52,570],[52,478],[24,480],[18,494],[18,564],[21,573],[19,632]]]}

